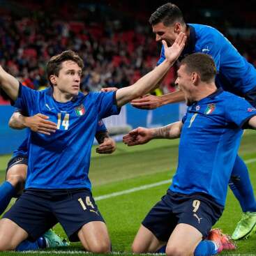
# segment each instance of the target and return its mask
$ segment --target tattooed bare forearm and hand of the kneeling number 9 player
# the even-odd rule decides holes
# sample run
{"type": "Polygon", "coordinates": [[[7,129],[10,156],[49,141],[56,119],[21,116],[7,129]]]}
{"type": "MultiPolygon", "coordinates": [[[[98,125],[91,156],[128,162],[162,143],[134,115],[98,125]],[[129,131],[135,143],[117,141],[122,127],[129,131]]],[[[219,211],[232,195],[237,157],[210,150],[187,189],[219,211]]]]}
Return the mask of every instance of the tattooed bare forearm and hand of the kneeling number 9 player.
{"type": "Polygon", "coordinates": [[[128,146],[146,144],[153,139],[176,139],[181,135],[181,121],[171,123],[160,128],[143,128],[138,127],[131,130],[128,135],[123,136],[123,143],[128,146]]]}

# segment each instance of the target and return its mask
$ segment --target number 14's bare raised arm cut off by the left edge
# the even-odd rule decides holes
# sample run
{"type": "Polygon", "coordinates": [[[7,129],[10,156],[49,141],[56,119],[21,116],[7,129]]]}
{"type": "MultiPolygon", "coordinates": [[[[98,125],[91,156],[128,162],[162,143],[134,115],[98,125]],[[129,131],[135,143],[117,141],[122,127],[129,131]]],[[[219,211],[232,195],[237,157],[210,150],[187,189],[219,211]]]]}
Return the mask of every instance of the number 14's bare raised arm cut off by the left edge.
{"type": "Polygon", "coordinates": [[[19,93],[19,81],[8,74],[6,70],[0,66],[0,87],[12,99],[16,100],[19,93]]]}

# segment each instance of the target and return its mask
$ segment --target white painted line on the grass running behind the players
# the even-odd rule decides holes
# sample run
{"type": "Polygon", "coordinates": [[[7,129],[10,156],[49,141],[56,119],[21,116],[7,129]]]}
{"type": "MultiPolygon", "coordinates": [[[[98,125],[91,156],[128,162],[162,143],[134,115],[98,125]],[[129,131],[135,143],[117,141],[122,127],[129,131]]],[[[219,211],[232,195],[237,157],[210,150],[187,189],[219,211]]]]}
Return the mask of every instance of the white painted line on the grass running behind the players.
{"type": "MultiPolygon", "coordinates": [[[[256,162],[256,158],[251,158],[251,159],[245,160],[244,162],[246,164],[254,163],[254,162],[256,162]]],[[[100,200],[111,198],[111,197],[118,197],[119,195],[126,195],[126,194],[130,194],[130,193],[133,193],[133,192],[136,192],[136,191],[146,190],[148,188],[157,187],[157,186],[167,184],[167,183],[171,183],[171,182],[172,182],[172,179],[167,179],[165,181],[159,181],[159,182],[156,182],[156,183],[151,183],[151,184],[147,184],[147,185],[143,185],[143,186],[139,186],[139,187],[135,187],[135,188],[130,188],[130,189],[127,189],[127,190],[122,190],[122,191],[110,193],[110,194],[107,194],[107,195],[100,195],[98,197],[94,197],[94,199],[96,201],[100,201],[100,200]]]]}

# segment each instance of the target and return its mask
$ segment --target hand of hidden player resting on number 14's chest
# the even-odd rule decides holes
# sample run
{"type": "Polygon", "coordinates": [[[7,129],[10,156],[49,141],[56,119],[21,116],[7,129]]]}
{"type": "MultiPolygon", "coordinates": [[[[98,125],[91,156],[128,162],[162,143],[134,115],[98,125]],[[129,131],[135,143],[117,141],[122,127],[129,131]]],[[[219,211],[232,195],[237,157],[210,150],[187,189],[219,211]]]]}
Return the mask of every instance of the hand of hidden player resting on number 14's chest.
{"type": "Polygon", "coordinates": [[[51,133],[55,133],[57,130],[57,124],[47,119],[49,119],[49,116],[38,113],[34,116],[25,117],[24,121],[25,126],[30,128],[33,132],[51,135],[51,133]]]}

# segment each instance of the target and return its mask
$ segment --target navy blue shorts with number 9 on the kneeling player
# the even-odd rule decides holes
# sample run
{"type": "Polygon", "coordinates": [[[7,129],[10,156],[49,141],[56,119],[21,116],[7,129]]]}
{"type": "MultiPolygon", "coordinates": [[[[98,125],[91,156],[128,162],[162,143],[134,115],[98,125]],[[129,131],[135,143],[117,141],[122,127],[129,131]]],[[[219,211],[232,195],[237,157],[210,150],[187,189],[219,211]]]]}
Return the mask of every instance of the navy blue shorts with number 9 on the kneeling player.
{"type": "Polygon", "coordinates": [[[160,241],[168,241],[179,223],[195,227],[205,238],[223,209],[206,194],[183,195],[167,190],[167,194],[149,211],[142,225],[160,241]]]}

